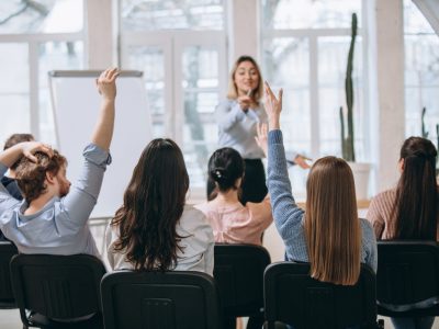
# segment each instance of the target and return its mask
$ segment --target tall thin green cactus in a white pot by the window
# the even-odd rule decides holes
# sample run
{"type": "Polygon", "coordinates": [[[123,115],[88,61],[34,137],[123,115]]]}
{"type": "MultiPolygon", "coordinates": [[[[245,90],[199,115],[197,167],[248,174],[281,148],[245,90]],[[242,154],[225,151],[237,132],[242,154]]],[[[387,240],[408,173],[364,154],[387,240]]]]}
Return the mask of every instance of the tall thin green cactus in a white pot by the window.
{"type": "Polygon", "coordinates": [[[351,23],[351,41],[348,54],[348,64],[345,78],[346,91],[346,115],[342,106],[340,107],[340,125],[341,125],[341,154],[342,158],[348,161],[352,169],[353,179],[356,181],[357,200],[368,198],[369,174],[371,164],[356,162],[354,136],[353,136],[353,88],[352,88],[352,69],[353,69],[353,50],[357,37],[357,14],[352,13],[351,23]],[[346,124],[345,124],[346,123],[346,124]]]}

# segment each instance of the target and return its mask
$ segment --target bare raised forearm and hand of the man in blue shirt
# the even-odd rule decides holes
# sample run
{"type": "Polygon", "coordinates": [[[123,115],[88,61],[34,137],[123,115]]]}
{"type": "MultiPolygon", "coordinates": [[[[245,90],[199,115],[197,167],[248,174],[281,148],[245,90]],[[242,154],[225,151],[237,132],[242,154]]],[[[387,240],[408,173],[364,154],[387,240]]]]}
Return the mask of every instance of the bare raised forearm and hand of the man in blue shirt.
{"type": "Polygon", "coordinates": [[[116,68],[108,69],[95,80],[99,93],[102,95],[101,110],[91,141],[104,150],[110,149],[114,129],[114,101],[116,98],[116,68]]]}

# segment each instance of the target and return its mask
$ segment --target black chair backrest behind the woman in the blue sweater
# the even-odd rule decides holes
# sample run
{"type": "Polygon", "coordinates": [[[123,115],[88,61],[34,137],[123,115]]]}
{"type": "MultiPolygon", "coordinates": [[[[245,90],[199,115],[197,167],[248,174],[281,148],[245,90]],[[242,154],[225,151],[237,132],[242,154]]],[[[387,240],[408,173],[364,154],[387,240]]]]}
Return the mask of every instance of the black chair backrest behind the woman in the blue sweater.
{"type": "Polygon", "coordinates": [[[295,329],[376,328],[375,274],[367,265],[353,286],[314,280],[309,264],[293,262],[269,265],[263,283],[269,329],[274,321],[295,329]]]}

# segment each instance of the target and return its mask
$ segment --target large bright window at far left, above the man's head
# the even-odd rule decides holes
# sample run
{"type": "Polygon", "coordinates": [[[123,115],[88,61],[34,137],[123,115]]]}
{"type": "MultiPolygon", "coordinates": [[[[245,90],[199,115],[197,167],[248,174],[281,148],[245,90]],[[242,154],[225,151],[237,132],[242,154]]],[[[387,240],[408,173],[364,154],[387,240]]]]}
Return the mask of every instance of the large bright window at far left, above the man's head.
{"type": "Polygon", "coordinates": [[[79,0],[1,1],[0,143],[29,132],[55,143],[47,72],[83,67],[82,19],[79,0]]]}

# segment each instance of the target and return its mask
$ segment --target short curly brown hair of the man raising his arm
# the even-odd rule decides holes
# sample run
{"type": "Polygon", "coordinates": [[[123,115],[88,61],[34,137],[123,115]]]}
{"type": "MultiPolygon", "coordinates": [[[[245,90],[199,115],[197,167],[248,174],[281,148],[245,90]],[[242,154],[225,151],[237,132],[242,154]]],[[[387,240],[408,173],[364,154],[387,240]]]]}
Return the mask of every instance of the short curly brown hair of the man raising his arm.
{"type": "Polygon", "coordinates": [[[67,164],[66,158],[57,150],[52,158],[44,152],[36,152],[35,157],[36,162],[23,157],[16,167],[16,182],[27,204],[46,192],[46,172],[56,175],[67,164]]]}

